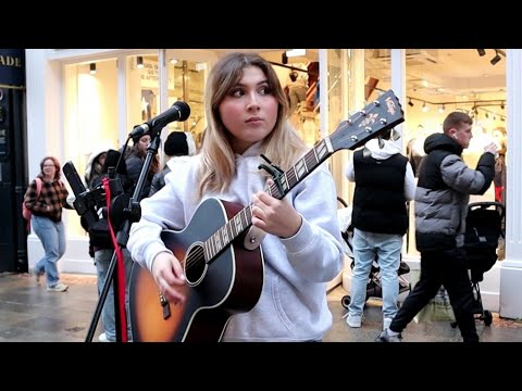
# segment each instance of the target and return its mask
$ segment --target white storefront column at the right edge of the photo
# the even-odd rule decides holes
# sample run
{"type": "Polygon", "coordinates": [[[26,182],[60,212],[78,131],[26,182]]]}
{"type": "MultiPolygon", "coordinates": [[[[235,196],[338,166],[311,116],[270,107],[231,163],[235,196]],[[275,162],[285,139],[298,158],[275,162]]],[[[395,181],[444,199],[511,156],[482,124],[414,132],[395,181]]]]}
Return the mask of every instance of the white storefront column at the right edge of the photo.
{"type": "Polygon", "coordinates": [[[522,50],[508,49],[506,260],[500,263],[500,316],[522,317],[522,50]]]}

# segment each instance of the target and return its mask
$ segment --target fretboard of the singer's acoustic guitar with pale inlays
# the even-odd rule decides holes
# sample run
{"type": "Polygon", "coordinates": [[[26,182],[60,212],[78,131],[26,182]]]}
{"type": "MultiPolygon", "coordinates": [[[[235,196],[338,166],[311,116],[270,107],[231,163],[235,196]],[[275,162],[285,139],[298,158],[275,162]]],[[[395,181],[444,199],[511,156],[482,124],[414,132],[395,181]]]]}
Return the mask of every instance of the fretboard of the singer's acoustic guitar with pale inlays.
{"type": "MultiPolygon", "coordinates": [[[[293,167],[282,174],[279,181],[283,193],[279,192],[277,185],[269,187],[266,192],[281,200],[296,185],[312,173],[321,163],[334,153],[330,137],[325,137],[316,146],[304,154],[293,167]]],[[[217,229],[203,243],[204,255],[207,260],[213,258],[223,249],[232,243],[239,235],[241,235],[252,224],[252,205],[245,206],[239,213],[231,218],[223,227],[217,229]]]]}

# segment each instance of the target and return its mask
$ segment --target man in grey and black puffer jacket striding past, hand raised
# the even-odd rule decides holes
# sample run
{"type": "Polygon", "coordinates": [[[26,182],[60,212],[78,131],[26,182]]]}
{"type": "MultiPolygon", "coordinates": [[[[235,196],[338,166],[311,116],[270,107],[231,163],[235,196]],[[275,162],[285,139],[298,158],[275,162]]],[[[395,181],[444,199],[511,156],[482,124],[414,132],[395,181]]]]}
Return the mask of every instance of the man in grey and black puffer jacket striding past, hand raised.
{"type": "Polygon", "coordinates": [[[443,285],[451,302],[464,342],[478,342],[473,315],[473,291],[463,250],[470,194],[484,194],[495,174],[497,147],[484,148],[475,169],[462,161],[462,150],[473,137],[473,121],[461,112],[450,113],[444,134],[424,142],[426,156],[420,167],[415,192],[415,239],[421,253],[421,278],[406,298],[380,342],[399,342],[401,331],[435,297],[443,285]]]}

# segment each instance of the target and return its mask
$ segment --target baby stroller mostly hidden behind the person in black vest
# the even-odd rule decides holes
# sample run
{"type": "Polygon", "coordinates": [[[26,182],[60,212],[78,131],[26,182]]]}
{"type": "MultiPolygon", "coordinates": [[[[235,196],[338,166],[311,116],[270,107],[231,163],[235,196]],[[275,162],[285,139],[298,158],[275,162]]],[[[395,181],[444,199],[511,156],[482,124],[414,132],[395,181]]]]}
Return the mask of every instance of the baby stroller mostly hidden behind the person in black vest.
{"type": "MultiPolygon", "coordinates": [[[[343,248],[345,250],[345,254],[351,260],[350,267],[353,269],[355,266],[355,258],[352,253],[352,238],[353,238],[353,227],[351,225],[351,205],[348,206],[347,202],[343,200],[340,197],[337,197],[337,201],[343,204],[345,207],[337,211],[337,217],[339,219],[339,227],[340,227],[340,235],[343,236],[344,243],[343,248]]],[[[410,282],[402,277],[402,275],[408,274],[410,272],[410,267],[406,262],[400,261],[399,265],[399,293],[411,291],[410,282]]],[[[370,276],[368,279],[366,285],[366,301],[370,298],[383,298],[383,287],[381,283],[380,277],[380,267],[377,260],[373,261],[372,269],[370,272],[370,276]]],[[[340,299],[340,303],[345,308],[348,308],[350,305],[351,297],[349,294],[344,295],[340,299]]]]}

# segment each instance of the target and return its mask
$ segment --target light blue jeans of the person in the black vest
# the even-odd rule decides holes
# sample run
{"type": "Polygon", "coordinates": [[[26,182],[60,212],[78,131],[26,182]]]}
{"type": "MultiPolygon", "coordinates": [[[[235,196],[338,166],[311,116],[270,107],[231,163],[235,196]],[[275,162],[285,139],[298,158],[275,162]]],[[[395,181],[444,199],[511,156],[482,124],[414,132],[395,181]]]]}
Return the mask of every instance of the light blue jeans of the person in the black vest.
{"type": "Polygon", "coordinates": [[[377,257],[383,288],[383,317],[393,318],[398,311],[399,297],[398,268],[402,235],[373,234],[353,229],[355,266],[351,277],[351,301],[348,306],[351,316],[362,316],[366,301],[372,263],[377,257]]]}

